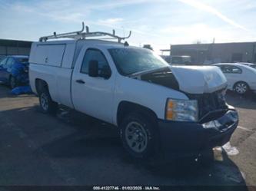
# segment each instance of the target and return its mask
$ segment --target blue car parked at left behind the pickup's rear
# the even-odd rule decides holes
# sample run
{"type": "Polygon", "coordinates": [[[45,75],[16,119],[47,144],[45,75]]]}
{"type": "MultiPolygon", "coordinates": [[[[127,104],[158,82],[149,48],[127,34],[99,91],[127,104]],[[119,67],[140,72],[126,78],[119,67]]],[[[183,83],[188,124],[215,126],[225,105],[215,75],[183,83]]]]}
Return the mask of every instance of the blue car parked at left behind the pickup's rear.
{"type": "Polygon", "coordinates": [[[28,84],[28,56],[7,56],[0,61],[0,82],[12,89],[28,84]]]}

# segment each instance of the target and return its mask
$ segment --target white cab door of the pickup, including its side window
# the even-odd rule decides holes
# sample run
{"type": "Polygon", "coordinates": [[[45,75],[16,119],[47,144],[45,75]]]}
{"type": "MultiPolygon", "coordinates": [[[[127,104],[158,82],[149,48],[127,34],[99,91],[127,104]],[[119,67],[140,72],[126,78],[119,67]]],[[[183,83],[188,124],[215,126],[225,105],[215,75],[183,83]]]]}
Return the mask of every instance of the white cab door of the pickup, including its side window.
{"type": "Polygon", "coordinates": [[[74,107],[85,114],[111,123],[115,77],[113,74],[109,77],[89,76],[90,61],[98,62],[98,74],[105,68],[111,70],[103,51],[87,48],[78,58],[72,77],[74,107]]]}

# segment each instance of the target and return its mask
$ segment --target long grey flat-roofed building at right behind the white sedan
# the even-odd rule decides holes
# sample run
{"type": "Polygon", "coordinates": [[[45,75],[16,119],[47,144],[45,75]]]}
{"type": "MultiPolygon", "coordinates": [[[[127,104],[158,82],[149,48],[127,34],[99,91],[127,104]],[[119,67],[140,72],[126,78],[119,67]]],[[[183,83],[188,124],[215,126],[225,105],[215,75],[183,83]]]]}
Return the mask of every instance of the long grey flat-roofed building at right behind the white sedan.
{"type": "MultiPolygon", "coordinates": [[[[192,64],[220,62],[256,63],[256,42],[172,44],[172,56],[191,56],[192,64]]],[[[166,51],[166,50],[165,50],[166,51]]]]}

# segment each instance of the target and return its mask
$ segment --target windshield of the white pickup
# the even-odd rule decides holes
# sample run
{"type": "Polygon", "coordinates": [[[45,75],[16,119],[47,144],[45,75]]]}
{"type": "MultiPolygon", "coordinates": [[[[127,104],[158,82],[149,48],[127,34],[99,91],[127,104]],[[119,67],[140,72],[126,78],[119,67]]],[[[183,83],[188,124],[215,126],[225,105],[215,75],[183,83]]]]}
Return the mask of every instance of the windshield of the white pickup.
{"type": "Polygon", "coordinates": [[[111,48],[108,51],[118,71],[123,75],[169,66],[166,61],[148,49],[111,48]]]}

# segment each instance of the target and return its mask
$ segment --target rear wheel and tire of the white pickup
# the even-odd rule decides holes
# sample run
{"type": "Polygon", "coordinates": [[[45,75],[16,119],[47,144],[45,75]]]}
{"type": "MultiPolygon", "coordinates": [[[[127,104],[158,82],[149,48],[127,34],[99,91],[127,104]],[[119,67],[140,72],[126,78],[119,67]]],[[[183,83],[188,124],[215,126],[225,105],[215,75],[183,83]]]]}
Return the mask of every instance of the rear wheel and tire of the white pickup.
{"type": "Polygon", "coordinates": [[[47,90],[42,91],[39,95],[39,103],[44,114],[56,114],[58,110],[58,104],[52,100],[47,90]]]}

